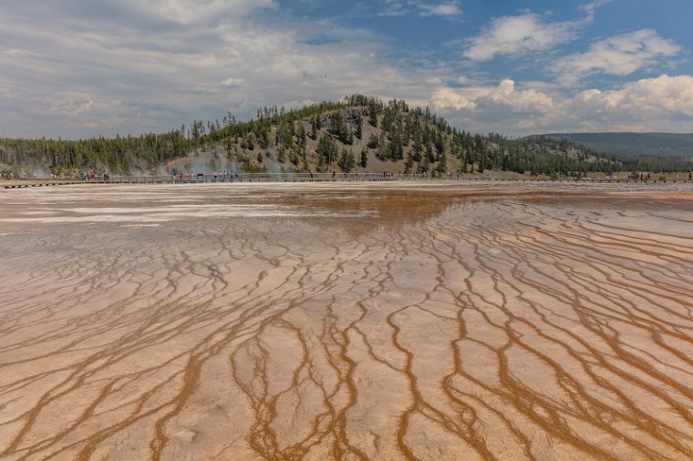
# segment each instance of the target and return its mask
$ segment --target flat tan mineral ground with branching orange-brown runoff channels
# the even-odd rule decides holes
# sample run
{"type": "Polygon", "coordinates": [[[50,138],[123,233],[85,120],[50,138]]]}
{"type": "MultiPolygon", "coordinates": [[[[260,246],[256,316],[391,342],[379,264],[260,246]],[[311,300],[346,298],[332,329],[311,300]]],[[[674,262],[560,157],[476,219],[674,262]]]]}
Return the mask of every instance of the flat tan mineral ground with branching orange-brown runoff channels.
{"type": "Polygon", "coordinates": [[[0,458],[690,459],[693,190],[0,200],[0,458]]]}

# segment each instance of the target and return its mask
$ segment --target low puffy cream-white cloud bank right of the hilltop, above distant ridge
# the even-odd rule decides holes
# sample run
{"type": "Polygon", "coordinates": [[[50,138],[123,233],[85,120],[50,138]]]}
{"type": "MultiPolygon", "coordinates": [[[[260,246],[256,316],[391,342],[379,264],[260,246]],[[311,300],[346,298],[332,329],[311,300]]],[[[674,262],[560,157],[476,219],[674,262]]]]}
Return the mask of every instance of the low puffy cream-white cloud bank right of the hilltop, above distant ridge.
{"type": "Polygon", "coordinates": [[[471,131],[522,136],[555,131],[693,131],[693,77],[643,78],[611,90],[567,95],[556,88],[498,86],[438,88],[429,104],[471,131]]]}

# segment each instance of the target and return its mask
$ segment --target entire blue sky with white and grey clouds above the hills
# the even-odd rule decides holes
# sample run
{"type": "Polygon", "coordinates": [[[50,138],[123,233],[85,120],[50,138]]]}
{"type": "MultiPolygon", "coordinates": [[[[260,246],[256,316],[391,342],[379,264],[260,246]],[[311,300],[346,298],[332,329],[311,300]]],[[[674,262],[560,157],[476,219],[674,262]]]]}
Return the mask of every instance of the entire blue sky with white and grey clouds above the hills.
{"type": "Polygon", "coordinates": [[[357,93],[511,137],[693,132],[691,18],[690,0],[2,0],[0,137],[357,93]]]}

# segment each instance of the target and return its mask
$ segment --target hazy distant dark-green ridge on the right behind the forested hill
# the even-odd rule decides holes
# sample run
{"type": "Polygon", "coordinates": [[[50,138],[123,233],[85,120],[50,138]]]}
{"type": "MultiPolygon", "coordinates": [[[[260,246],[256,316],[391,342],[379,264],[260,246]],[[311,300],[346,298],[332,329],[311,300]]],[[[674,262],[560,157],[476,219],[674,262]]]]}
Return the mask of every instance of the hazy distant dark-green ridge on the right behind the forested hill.
{"type": "Polygon", "coordinates": [[[605,154],[693,158],[693,134],[678,133],[548,133],[528,138],[567,139],[605,154]]]}

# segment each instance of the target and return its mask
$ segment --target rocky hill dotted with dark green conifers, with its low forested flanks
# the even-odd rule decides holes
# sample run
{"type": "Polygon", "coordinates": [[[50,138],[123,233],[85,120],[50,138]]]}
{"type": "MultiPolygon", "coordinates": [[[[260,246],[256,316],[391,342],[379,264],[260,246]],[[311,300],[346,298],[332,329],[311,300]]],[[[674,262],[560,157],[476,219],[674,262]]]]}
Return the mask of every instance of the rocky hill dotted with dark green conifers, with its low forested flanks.
{"type": "MultiPolygon", "coordinates": [[[[206,160],[205,160],[206,161],[206,160]]],[[[454,128],[429,108],[355,95],[295,110],[260,108],[162,134],[82,140],[0,139],[0,169],[52,172],[391,171],[431,176],[488,169],[523,174],[688,170],[681,159],[605,156],[573,141],[509,139],[454,128]],[[210,159],[205,163],[198,159],[210,159]]]]}

